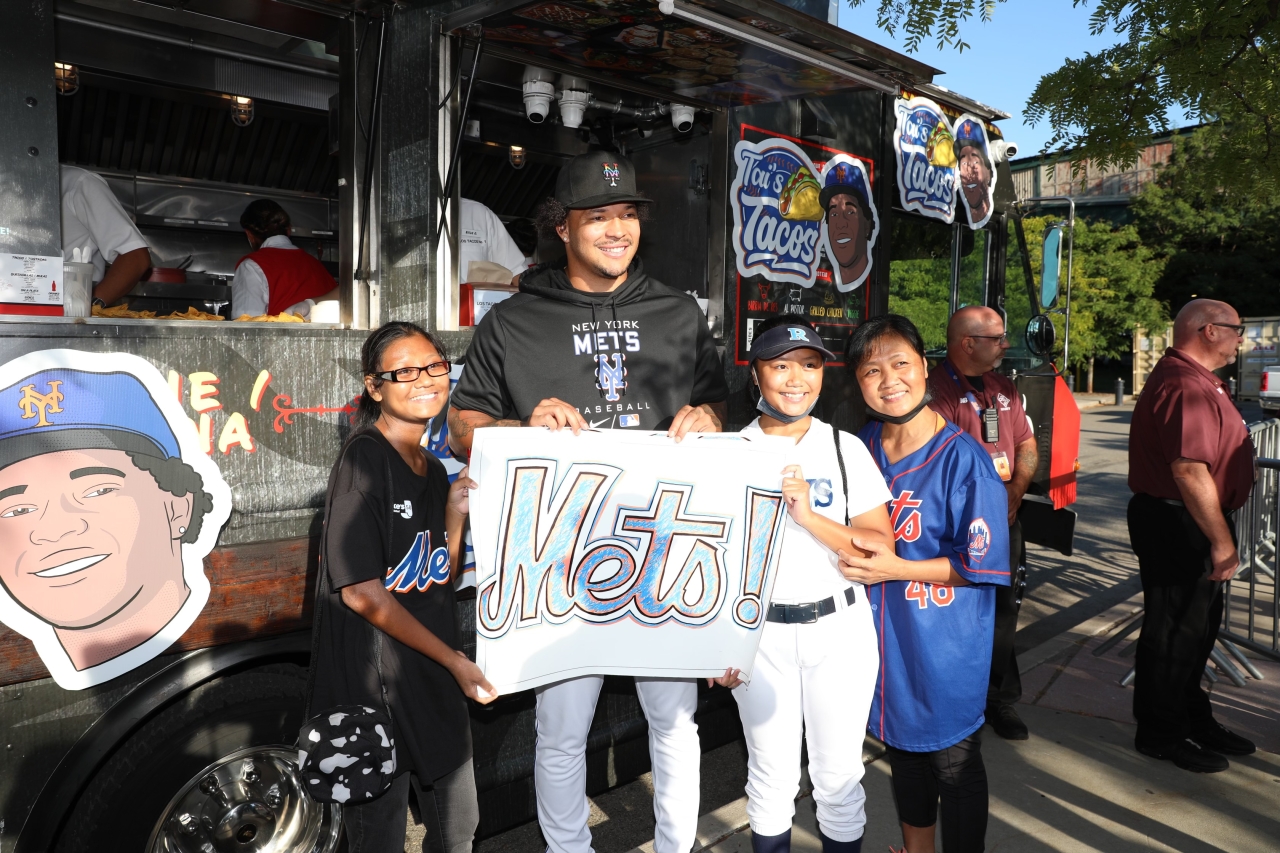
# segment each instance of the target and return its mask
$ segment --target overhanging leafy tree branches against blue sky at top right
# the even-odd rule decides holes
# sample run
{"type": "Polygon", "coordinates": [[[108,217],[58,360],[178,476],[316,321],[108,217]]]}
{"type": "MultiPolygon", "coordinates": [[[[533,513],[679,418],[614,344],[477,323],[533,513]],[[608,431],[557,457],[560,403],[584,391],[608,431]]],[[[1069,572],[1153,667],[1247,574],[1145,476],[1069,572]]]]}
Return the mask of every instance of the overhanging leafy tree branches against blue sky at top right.
{"type": "MultiPolygon", "coordinates": [[[[1006,0],[847,0],[878,3],[877,24],[964,50],[961,26],[989,20],[1006,0]]],[[[1222,143],[1206,172],[1233,196],[1280,187],[1280,0],[1074,0],[1093,6],[1091,29],[1117,44],[1068,59],[1041,78],[1027,117],[1048,119],[1044,154],[1076,150],[1076,161],[1129,167],[1170,111],[1217,124],[1222,143]]]]}

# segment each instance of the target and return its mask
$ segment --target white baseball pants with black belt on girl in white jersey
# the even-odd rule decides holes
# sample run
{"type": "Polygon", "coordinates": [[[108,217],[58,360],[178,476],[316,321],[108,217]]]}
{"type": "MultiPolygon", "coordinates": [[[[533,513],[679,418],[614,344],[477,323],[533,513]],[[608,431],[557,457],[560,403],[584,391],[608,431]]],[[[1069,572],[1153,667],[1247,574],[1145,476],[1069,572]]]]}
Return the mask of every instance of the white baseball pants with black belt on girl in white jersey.
{"type": "Polygon", "coordinates": [[[833,841],[861,838],[863,735],[878,670],[876,628],[860,588],[852,607],[817,622],[764,624],[751,681],[733,689],[746,735],[753,833],[791,829],[804,735],[818,825],[833,841]]]}

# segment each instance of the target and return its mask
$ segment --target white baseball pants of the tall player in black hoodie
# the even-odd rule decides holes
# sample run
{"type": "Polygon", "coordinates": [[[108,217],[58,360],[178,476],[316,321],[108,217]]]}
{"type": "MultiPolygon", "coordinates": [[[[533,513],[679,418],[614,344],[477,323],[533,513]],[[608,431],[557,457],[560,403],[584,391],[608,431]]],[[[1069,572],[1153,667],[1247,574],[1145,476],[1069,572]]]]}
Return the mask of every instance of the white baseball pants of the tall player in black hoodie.
{"type": "MultiPolygon", "coordinates": [[[[534,785],[538,822],[552,853],[591,850],[586,735],[602,684],[602,676],[588,675],[538,689],[534,785]]],[[[653,847],[655,853],[687,853],[698,834],[698,683],[637,678],[636,693],[649,720],[653,813],[658,821],[653,847]]]]}

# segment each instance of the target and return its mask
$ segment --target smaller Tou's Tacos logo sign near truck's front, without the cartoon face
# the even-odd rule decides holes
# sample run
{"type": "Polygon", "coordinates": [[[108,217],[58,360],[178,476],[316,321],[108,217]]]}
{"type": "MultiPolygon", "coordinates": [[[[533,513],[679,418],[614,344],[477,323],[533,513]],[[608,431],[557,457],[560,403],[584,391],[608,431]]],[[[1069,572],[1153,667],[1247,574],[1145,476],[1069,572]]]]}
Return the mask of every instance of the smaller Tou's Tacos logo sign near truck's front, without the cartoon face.
{"type": "Polygon", "coordinates": [[[904,210],[951,223],[956,216],[955,137],[942,108],[927,97],[897,102],[893,151],[904,210]]]}

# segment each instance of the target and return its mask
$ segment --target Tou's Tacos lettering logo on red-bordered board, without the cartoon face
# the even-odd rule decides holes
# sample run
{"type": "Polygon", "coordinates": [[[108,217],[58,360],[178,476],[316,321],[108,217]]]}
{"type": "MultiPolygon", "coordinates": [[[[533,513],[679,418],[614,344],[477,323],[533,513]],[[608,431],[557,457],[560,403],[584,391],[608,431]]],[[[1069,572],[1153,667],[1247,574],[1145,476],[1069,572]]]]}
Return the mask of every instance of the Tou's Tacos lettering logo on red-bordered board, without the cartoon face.
{"type": "Polygon", "coordinates": [[[809,158],[786,140],[741,141],[730,188],[741,275],[812,287],[818,273],[822,188],[809,158]]]}

